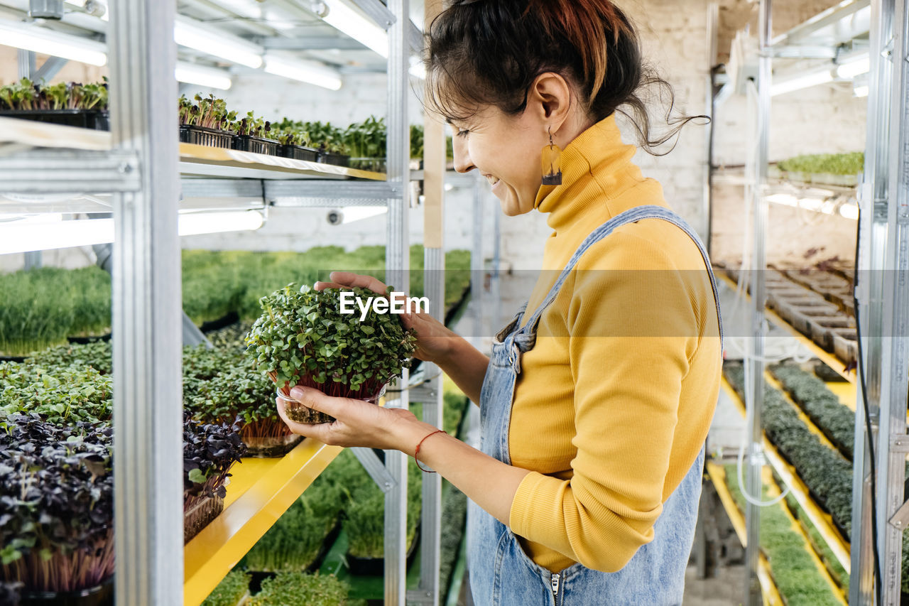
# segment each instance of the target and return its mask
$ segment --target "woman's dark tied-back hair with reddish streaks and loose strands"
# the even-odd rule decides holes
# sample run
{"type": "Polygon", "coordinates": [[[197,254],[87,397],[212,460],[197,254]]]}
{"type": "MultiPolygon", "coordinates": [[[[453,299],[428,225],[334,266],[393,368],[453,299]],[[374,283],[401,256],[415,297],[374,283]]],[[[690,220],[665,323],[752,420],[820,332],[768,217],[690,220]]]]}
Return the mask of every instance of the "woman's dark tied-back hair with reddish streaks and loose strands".
{"type": "MultiPolygon", "coordinates": [[[[482,106],[515,115],[527,106],[534,78],[563,76],[597,122],[614,112],[627,116],[639,144],[654,156],[697,117],[672,117],[674,93],[644,64],[634,25],[609,0],[454,0],[427,34],[426,104],[463,120],[482,106]],[[668,99],[669,132],[651,135],[643,92],[650,86],[668,99]],[[665,94],[665,96],[664,96],[665,94]]],[[[709,119],[709,118],[707,118],[709,119]]]]}

